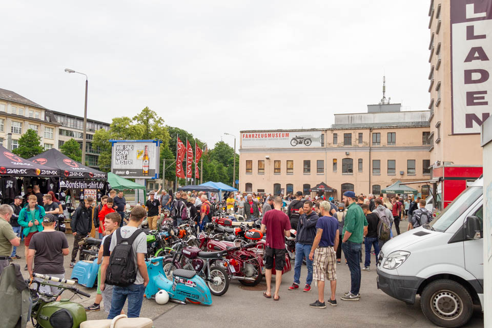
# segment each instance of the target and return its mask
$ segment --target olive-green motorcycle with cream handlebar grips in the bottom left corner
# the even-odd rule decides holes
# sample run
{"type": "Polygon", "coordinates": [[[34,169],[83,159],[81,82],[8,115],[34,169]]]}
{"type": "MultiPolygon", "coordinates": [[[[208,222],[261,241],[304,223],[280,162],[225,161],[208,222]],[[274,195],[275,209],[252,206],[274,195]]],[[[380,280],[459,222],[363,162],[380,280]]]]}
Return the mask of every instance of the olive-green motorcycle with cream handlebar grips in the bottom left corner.
{"type": "Polygon", "coordinates": [[[32,311],[31,321],[32,325],[36,328],[78,328],[80,323],[87,320],[86,310],[80,304],[71,302],[67,299],[57,301],[61,293],[65,290],[69,290],[74,294],[80,294],[86,297],[91,295],[78,290],[74,286],[57,285],[47,282],[59,282],[73,285],[75,281],[60,279],[57,277],[45,276],[40,274],[33,274],[33,279],[27,280],[31,290],[32,298],[32,311]],[[59,288],[58,293],[44,293],[39,291],[41,285],[54,286],[59,288]]]}

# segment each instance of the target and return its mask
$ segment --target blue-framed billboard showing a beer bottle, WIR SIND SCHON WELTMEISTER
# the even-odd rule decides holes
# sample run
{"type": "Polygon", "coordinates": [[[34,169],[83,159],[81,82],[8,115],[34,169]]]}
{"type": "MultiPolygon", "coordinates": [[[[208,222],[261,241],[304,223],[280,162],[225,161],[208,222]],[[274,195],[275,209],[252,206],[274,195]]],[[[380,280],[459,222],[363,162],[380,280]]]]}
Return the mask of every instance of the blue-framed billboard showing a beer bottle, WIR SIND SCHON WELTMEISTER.
{"type": "Polygon", "coordinates": [[[109,140],[111,172],[137,179],[159,177],[160,140],[109,140]]]}

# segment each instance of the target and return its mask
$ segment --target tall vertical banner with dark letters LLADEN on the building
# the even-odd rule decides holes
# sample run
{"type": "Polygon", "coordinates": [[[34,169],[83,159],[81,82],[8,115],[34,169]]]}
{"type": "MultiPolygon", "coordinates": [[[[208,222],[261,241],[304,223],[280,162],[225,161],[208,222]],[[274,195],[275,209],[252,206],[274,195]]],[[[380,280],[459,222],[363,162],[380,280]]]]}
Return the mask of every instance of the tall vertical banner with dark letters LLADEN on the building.
{"type": "Polygon", "coordinates": [[[452,134],[480,133],[492,114],[492,0],[454,0],[450,20],[452,134]]]}

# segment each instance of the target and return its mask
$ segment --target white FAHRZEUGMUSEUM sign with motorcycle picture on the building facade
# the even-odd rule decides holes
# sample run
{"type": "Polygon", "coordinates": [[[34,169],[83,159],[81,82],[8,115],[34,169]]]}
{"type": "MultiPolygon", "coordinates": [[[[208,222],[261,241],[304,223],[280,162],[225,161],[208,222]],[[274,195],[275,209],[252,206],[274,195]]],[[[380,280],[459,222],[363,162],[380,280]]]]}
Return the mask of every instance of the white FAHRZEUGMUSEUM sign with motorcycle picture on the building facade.
{"type": "Polygon", "coordinates": [[[323,138],[314,130],[241,132],[241,148],[315,148],[324,146],[323,138]]]}

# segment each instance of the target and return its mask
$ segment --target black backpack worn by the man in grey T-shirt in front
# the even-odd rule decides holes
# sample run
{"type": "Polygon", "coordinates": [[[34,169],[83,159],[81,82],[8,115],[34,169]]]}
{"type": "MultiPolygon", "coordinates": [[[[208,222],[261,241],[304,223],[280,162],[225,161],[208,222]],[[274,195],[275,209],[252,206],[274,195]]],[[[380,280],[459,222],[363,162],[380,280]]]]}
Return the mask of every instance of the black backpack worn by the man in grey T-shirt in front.
{"type": "Polygon", "coordinates": [[[129,238],[121,237],[121,228],[115,232],[116,246],[109,257],[106,283],[126,287],[135,282],[137,267],[133,257],[133,242],[143,230],[135,231],[129,238]]]}

